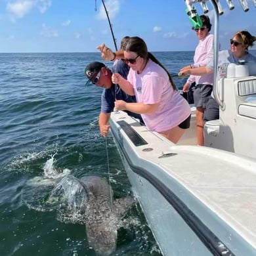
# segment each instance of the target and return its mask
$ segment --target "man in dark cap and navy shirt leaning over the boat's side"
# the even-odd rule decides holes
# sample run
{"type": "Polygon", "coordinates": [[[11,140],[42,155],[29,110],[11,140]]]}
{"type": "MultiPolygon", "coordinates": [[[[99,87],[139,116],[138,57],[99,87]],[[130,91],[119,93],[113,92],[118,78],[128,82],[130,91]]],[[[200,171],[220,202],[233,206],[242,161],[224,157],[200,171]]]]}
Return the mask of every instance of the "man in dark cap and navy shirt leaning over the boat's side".
{"type": "MultiPolygon", "coordinates": [[[[105,66],[102,62],[91,62],[85,67],[85,75],[89,79],[85,85],[93,83],[96,86],[104,88],[101,96],[101,110],[98,116],[98,125],[100,127],[100,134],[106,136],[110,125],[108,121],[110,119],[110,114],[114,110],[115,100],[125,100],[126,102],[136,102],[135,96],[126,95],[119,85],[114,85],[112,83],[112,74],[119,73],[125,79],[129,72],[129,66],[125,64],[122,60],[116,62],[112,70],[105,66]]],[[[127,111],[129,116],[133,116],[141,123],[142,117],[139,114],[127,111]]]]}

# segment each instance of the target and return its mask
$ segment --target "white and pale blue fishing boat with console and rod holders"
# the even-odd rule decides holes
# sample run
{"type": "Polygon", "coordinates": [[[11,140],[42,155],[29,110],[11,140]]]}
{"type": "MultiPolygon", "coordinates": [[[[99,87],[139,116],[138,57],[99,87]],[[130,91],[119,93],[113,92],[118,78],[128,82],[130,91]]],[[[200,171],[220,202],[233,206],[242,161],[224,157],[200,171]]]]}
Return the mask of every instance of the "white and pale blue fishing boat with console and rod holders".
{"type": "MultiPolygon", "coordinates": [[[[222,9],[209,2],[217,45],[222,9]]],[[[185,0],[188,8],[193,3],[206,8],[185,0]]],[[[217,52],[215,60],[216,77],[217,52]]],[[[205,123],[205,146],[196,146],[194,112],[178,144],[125,112],[111,115],[121,160],[163,255],[256,255],[256,76],[215,84],[220,118],[205,123]]]]}

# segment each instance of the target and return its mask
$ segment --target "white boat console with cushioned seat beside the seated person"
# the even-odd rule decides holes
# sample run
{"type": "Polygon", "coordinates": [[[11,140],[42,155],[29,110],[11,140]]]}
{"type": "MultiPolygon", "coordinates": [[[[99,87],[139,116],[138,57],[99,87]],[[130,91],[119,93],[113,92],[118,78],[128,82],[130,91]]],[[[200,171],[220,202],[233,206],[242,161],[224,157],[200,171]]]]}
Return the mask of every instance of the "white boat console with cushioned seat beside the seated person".
{"type": "Polygon", "coordinates": [[[219,120],[207,121],[205,146],[256,158],[256,76],[221,78],[219,120]]]}

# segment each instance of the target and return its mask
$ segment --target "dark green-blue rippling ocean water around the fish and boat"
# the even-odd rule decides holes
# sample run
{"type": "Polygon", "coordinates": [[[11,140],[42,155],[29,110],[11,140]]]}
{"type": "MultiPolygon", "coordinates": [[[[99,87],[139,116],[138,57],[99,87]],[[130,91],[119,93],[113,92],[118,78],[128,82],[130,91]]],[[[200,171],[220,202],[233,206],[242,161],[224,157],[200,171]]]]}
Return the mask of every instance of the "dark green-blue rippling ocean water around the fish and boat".
{"type": "MultiPolygon", "coordinates": [[[[181,87],[177,73],[193,52],[154,55],[181,87]]],[[[94,60],[99,53],[0,54],[0,255],[96,255],[75,186],[63,186],[61,203],[53,192],[83,175],[109,181],[114,198],[131,192],[111,134],[98,133],[102,89],[85,87],[94,60]]],[[[139,203],[119,226],[113,255],[161,255],[139,203]]]]}

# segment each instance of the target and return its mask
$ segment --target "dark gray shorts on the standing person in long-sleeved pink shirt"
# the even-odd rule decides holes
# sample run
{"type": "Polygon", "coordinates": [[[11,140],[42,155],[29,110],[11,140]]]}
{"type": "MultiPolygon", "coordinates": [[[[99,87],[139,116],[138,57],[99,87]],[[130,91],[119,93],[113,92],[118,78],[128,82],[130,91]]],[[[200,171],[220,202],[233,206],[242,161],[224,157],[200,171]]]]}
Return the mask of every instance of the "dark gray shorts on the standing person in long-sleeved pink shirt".
{"type": "Polygon", "coordinates": [[[207,101],[213,91],[213,85],[196,85],[194,89],[194,105],[206,108],[207,101]]]}

